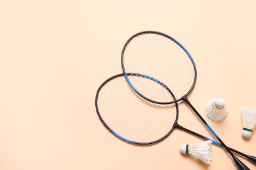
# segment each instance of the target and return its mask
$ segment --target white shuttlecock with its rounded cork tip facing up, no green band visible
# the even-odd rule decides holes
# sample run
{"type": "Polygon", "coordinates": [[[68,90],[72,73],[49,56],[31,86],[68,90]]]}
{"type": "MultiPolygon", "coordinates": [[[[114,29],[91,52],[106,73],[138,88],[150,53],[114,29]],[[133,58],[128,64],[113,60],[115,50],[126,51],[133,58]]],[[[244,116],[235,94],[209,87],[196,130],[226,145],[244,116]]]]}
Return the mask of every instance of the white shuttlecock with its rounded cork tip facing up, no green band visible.
{"type": "Polygon", "coordinates": [[[227,114],[226,101],[222,98],[211,99],[205,105],[205,115],[213,121],[221,121],[227,114]]]}

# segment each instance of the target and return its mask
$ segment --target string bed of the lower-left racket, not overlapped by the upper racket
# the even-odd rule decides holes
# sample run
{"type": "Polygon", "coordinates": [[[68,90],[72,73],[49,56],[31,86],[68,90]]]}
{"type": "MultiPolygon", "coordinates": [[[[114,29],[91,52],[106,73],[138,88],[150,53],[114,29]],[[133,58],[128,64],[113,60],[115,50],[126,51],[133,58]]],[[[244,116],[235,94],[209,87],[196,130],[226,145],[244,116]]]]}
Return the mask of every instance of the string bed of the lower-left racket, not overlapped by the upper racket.
{"type": "Polygon", "coordinates": [[[98,96],[98,109],[104,122],[125,139],[139,143],[156,141],[166,135],[175,121],[169,112],[171,106],[142,99],[131,90],[124,76],[116,80],[118,82],[105,84],[106,88],[100,90],[98,96]]]}

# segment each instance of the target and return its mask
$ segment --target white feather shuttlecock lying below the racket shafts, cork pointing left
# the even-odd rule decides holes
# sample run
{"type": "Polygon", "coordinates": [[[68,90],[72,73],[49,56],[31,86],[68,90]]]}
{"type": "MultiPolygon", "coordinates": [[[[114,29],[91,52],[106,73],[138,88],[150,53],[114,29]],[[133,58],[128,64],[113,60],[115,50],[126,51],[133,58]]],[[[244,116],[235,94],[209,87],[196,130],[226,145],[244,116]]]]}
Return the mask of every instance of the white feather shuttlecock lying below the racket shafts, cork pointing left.
{"type": "Polygon", "coordinates": [[[212,159],[211,143],[213,142],[204,141],[202,143],[195,144],[182,144],[180,150],[182,154],[196,156],[204,163],[210,164],[212,159]]]}

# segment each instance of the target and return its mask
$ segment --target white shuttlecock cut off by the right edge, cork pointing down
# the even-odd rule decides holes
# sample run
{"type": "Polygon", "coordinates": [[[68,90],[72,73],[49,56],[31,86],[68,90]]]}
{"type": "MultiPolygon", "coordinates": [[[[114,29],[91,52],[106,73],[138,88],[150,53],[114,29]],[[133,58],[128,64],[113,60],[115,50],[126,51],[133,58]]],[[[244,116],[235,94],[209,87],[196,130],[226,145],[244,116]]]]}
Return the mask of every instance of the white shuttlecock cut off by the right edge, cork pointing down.
{"type": "Polygon", "coordinates": [[[251,133],[256,125],[256,110],[249,107],[242,107],[243,131],[242,136],[251,137],[251,133]]]}

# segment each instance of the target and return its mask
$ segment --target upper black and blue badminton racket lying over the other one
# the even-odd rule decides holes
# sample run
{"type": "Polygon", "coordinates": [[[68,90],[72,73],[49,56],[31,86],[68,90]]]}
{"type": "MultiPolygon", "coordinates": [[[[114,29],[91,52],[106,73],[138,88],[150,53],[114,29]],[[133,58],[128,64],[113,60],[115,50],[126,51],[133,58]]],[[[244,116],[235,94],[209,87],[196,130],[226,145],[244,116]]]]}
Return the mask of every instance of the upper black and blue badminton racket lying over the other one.
{"type": "Polygon", "coordinates": [[[240,169],[249,169],[230,152],[230,149],[223,143],[217,133],[213,131],[188,101],[187,97],[196,83],[196,64],[188,50],[181,43],[169,37],[169,35],[156,31],[137,33],[125,43],[121,54],[121,65],[131,88],[144,99],[158,104],[185,101],[224,146],[238,167],[240,169]],[[128,76],[127,73],[135,74],[128,76]],[[136,73],[143,73],[157,78],[171,88],[175,98],[169,97],[166,93],[161,93],[163,91],[150,86],[151,84],[145,84],[136,78],[134,79],[133,76],[137,76],[136,73]]]}

